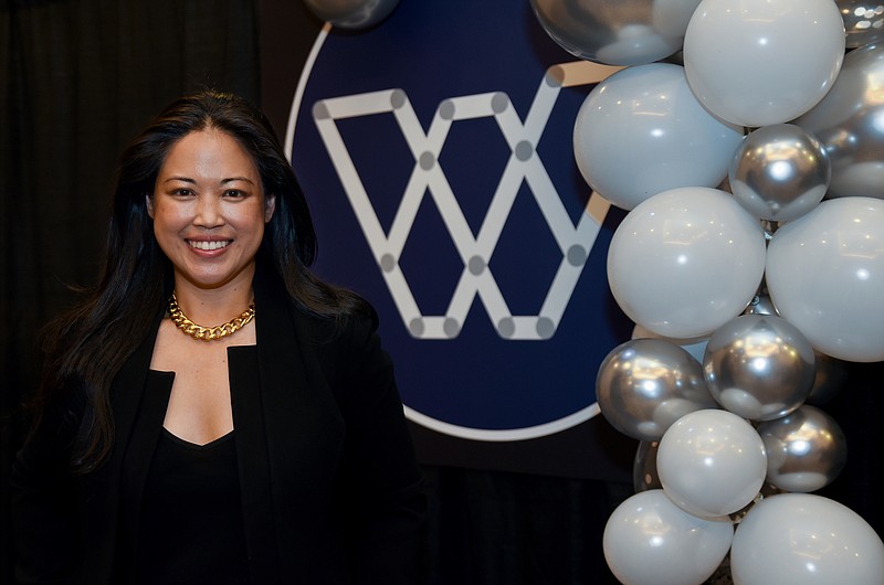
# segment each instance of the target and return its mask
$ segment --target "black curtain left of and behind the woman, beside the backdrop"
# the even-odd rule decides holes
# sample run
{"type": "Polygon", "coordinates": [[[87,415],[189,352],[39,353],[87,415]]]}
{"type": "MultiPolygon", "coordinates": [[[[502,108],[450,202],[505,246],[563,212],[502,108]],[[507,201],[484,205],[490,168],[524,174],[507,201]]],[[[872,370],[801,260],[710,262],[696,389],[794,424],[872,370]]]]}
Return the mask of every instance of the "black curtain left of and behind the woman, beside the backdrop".
{"type": "Polygon", "coordinates": [[[0,582],[11,583],[8,475],[36,379],[39,328],[92,284],[116,157],[185,92],[260,103],[251,0],[0,3],[0,582]]]}

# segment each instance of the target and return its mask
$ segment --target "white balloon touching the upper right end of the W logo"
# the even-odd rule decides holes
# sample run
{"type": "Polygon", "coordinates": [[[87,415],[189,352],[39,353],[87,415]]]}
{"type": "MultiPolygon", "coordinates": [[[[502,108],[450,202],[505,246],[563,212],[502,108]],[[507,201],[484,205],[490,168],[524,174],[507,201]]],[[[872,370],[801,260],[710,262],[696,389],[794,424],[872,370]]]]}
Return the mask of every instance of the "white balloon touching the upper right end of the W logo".
{"type": "Polygon", "coordinates": [[[676,187],[716,187],[743,129],[722,123],[691,93],[684,68],[651,63],[621,70],[587,96],[573,150],[589,185],[631,210],[676,187]]]}

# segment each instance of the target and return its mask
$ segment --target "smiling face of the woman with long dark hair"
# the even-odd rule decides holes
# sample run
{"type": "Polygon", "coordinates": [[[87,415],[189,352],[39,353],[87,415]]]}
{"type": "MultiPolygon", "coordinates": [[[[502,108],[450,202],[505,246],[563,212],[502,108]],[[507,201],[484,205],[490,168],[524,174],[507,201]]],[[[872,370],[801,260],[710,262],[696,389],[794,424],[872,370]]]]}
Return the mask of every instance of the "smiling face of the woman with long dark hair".
{"type": "Polygon", "coordinates": [[[147,204],[176,286],[185,279],[199,288],[251,287],[274,199],[232,136],[210,128],[172,145],[147,204]]]}

